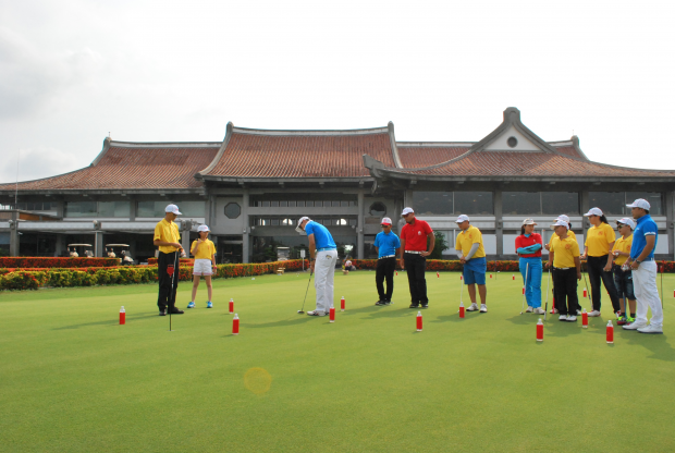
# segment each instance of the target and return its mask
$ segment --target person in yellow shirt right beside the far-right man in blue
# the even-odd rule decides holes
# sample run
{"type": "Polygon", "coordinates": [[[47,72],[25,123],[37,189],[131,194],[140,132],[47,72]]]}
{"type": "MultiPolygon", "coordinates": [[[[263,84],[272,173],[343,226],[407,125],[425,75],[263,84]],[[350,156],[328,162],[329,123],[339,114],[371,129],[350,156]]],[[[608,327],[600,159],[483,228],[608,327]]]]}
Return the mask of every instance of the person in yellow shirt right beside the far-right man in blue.
{"type": "Polygon", "coordinates": [[[612,255],[614,256],[614,285],[618,293],[618,303],[621,304],[619,326],[628,325],[635,320],[635,294],[633,292],[633,270],[626,262],[630,257],[630,247],[633,246],[633,230],[635,221],[625,217],[616,221],[616,226],[621,233],[621,237],[614,243],[612,255]],[[628,316],[628,308],[630,316],[628,316]]]}

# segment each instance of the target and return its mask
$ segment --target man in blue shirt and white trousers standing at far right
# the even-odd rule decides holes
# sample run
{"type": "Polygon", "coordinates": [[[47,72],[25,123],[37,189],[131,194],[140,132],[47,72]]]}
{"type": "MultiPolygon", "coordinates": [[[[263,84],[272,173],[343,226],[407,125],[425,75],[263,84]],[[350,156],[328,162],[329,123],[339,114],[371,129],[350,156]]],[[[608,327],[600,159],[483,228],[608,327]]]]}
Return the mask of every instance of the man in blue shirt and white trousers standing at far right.
{"type": "Polygon", "coordinates": [[[629,207],[633,218],[637,220],[633,231],[630,246],[630,269],[637,298],[637,316],[635,322],[623,326],[626,330],[640,333],[663,333],[663,307],[656,289],[659,267],[654,261],[654,250],[659,242],[659,226],[649,215],[651,205],[642,198],[636,199],[629,207]],[[651,309],[651,322],[647,325],[647,308],[651,309]]]}

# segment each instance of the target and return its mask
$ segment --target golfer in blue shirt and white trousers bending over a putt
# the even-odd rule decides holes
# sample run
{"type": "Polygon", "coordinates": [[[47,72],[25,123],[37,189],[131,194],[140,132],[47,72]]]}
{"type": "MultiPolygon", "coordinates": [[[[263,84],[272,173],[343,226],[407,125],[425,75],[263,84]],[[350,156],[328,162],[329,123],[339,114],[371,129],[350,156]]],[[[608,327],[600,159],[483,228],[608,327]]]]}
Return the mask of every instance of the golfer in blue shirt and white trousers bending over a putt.
{"type": "Polygon", "coordinates": [[[333,236],[326,226],[308,217],[297,221],[298,233],[307,234],[309,238],[310,268],[315,273],[314,287],[317,290],[317,308],[307,311],[309,316],[326,316],[333,306],[333,280],[335,278],[335,262],[338,247],[333,236]]]}

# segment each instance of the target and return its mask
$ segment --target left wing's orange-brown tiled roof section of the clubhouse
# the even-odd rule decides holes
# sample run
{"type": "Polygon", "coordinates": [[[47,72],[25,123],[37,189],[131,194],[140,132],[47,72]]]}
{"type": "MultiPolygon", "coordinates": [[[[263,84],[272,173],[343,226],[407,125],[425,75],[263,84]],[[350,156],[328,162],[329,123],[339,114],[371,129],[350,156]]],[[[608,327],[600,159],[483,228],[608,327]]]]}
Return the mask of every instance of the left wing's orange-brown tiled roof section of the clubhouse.
{"type": "MultiPolygon", "coordinates": [[[[123,144],[114,142],[89,167],[19,183],[20,191],[196,188],[195,173],[213,160],[219,144],[123,144]]],[[[15,185],[0,184],[0,191],[15,185]]]]}

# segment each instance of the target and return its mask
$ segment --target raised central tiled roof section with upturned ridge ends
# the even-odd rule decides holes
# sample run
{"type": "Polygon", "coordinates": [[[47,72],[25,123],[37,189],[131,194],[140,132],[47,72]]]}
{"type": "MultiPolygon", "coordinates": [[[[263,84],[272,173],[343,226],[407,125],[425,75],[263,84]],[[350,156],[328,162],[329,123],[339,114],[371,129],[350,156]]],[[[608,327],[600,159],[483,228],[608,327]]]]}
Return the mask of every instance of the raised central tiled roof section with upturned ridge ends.
{"type": "Polygon", "coordinates": [[[395,167],[386,127],[359,131],[255,131],[234,127],[205,176],[367,177],[363,155],[395,167]]]}

